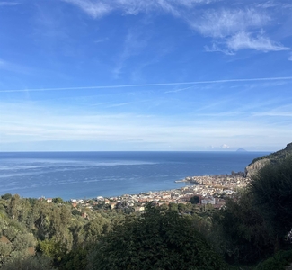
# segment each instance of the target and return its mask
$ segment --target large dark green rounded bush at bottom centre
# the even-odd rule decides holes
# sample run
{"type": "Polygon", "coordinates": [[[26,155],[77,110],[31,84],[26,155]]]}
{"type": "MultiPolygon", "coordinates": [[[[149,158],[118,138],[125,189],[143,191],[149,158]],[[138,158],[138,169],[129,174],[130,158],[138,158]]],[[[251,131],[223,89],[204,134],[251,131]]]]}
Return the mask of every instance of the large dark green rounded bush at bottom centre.
{"type": "Polygon", "coordinates": [[[177,211],[148,205],[98,242],[92,269],[226,269],[225,263],[177,211]]]}

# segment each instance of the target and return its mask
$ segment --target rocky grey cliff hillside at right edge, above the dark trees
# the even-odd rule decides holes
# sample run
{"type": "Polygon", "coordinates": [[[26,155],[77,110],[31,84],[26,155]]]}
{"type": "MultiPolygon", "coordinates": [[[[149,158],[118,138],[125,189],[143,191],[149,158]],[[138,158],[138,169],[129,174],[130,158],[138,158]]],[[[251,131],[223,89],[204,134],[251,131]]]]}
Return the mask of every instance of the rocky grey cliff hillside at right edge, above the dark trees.
{"type": "Polygon", "coordinates": [[[252,175],[255,175],[263,166],[266,166],[269,163],[277,164],[280,159],[288,156],[292,156],[292,142],[289,143],[286,148],[275,153],[271,153],[268,156],[254,158],[252,163],[245,167],[245,176],[251,177],[252,175]]]}

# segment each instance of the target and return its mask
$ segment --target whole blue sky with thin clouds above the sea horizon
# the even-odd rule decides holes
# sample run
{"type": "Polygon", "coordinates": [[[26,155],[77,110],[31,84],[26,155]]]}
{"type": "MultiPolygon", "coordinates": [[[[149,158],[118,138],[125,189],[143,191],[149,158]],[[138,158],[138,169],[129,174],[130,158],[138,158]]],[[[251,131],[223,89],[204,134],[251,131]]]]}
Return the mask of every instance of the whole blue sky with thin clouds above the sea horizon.
{"type": "Polygon", "coordinates": [[[290,0],[0,0],[0,151],[276,151],[290,0]]]}

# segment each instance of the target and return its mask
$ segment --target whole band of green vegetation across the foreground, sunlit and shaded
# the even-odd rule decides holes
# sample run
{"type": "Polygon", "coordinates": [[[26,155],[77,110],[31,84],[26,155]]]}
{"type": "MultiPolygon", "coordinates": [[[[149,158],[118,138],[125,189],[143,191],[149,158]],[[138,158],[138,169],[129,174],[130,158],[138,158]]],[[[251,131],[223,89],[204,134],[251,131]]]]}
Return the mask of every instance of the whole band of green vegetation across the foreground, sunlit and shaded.
{"type": "Polygon", "coordinates": [[[270,163],[217,211],[74,208],[0,199],[1,269],[284,269],[292,260],[292,157],[270,163]],[[245,267],[245,268],[243,268],[245,267]]]}

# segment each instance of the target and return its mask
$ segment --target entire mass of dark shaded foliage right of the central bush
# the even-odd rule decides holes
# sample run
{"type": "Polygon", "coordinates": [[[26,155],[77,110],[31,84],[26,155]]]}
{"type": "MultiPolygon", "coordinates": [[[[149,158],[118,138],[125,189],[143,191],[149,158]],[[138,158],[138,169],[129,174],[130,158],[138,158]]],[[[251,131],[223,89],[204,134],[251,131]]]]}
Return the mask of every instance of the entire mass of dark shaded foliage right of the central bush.
{"type": "Polygon", "coordinates": [[[292,157],[270,164],[213,215],[210,235],[229,263],[255,263],[288,248],[292,228],[292,157]]]}

